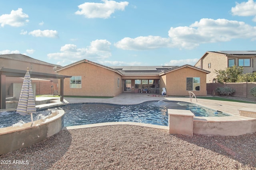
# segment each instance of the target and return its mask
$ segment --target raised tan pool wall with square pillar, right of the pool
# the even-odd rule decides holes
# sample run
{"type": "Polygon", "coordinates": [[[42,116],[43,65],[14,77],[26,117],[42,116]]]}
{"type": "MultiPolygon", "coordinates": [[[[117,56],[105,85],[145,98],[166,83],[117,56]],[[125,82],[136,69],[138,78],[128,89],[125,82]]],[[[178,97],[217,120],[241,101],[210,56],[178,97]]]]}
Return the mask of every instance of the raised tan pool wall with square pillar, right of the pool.
{"type": "Polygon", "coordinates": [[[256,132],[256,118],[253,117],[232,120],[228,116],[227,119],[209,121],[204,117],[194,117],[189,110],[176,109],[168,109],[168,115],[170,134],[238,136],[256,132]]]}

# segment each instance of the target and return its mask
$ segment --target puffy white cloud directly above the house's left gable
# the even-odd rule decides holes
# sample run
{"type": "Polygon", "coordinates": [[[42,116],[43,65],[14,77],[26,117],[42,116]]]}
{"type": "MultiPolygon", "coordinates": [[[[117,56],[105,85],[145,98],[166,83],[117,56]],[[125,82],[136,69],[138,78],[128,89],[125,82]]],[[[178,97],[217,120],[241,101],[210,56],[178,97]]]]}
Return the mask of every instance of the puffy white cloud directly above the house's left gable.
{"type": "Polygon", "coordinates": [[[60,53],[50,53],[47,56],[57,60],[97,60],[106,59],[111,56],[111,43],[106,39],[96,39],[87,48],[77,48],[74,44],[66,44],[60,48],[60,53]]]}

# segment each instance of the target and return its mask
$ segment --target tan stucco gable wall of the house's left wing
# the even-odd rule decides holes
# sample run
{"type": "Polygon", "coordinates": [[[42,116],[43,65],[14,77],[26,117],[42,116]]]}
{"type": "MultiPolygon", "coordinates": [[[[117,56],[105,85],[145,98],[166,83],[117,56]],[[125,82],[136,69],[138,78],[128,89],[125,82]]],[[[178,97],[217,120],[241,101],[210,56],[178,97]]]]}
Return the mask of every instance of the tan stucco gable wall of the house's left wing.
{"type": "Polygon", "coordinates": [[[82,88],[70,88],[70,78],[64,79],[64,95],[66,96],[116,96],[122,93],[121,75],[91,63],[76,64],[60,70],[58,74],[82,76],[82,88]]]}

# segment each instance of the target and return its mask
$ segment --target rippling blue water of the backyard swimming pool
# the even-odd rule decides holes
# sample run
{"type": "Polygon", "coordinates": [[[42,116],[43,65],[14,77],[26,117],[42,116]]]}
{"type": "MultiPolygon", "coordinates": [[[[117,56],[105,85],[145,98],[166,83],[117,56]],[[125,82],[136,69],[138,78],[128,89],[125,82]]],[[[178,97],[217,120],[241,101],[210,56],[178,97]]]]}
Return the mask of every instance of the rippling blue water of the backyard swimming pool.
{"type": "MultiPolygon", "coordinates": [[[[57,109],[57,108],[52,108],[57,109]]],[[[189,109],[195,116],[230,116],[207,107],[186,102],[152,101],[137,105],[116,105],[101,103],[68,104],[58,107],[65,111],[64,126],[86,125],[104,122],[138,122],[154,125],[168,126],[167,109],[189,109]]],[[[34,120],[38,115],[48,115],[50,110],[38,111],[34,114],[34,120]]],[[[40,118],[40,117],[39,117],[40,118]]],[[[29,122],[30,116],[6,111],[0,113],[0,127],[12,126],[18,121],[29,122]]]]}

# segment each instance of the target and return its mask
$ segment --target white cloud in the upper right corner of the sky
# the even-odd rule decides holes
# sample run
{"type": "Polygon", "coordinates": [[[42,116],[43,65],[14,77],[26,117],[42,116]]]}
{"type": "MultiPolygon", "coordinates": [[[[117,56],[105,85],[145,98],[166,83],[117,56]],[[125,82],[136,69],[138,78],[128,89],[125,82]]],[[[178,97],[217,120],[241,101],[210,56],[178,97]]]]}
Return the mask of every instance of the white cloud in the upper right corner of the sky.
{"type": "Polygon", "coordinates": [[[248,0],[247,2],[236,2],[236,6],[231,8],[234,16],[254,16],[253,21],[256,21],[256,2],[248,0]]]}

